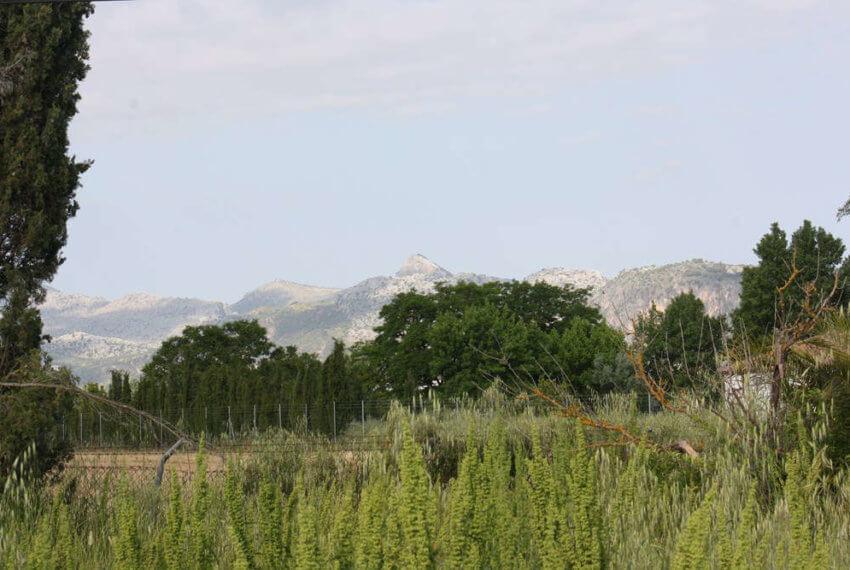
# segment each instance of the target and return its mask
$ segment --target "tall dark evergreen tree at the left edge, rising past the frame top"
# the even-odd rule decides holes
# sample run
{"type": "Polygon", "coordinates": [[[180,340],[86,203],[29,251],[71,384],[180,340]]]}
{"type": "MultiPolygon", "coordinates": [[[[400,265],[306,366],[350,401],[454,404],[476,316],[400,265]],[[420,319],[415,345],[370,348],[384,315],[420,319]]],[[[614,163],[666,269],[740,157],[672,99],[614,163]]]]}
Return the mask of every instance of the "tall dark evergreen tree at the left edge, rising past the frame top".
{"type": "MultiPolygon", "coordinates": [[[[0,4],[5,75],[0,86],[0,377],[48,372],[32,365],[43,339],[35,306],[63,261],[67,222],[77,211],[80,175],[88,167],[68,154],[68,125],[77,112],[77,86],[88,70],[83,21],[91,12],[85,2],[0,4]]],[[[20,412],[0,415],[0,432],[20,436],[5,438],[0,474],[31,441],[42,469],[67,454],[64,443],[46,437],[58,429],[55,418],[67,409],[33,407],[48,404],[67,400],[0,391],[0,409],[20,412]],[[12,421],[18,423],[11,426],[12,421]]]]}

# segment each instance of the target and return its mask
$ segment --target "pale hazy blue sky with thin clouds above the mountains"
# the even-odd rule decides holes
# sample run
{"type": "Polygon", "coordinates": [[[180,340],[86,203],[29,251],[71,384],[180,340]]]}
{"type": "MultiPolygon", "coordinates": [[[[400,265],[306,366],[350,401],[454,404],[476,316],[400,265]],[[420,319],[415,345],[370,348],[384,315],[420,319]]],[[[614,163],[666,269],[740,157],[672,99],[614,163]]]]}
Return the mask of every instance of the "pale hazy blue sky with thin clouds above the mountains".
{"type": "Polygon", "coordinates": [[[850,3],[98,4],[55,286],[235,301],[850,238],[850,3]]]}

